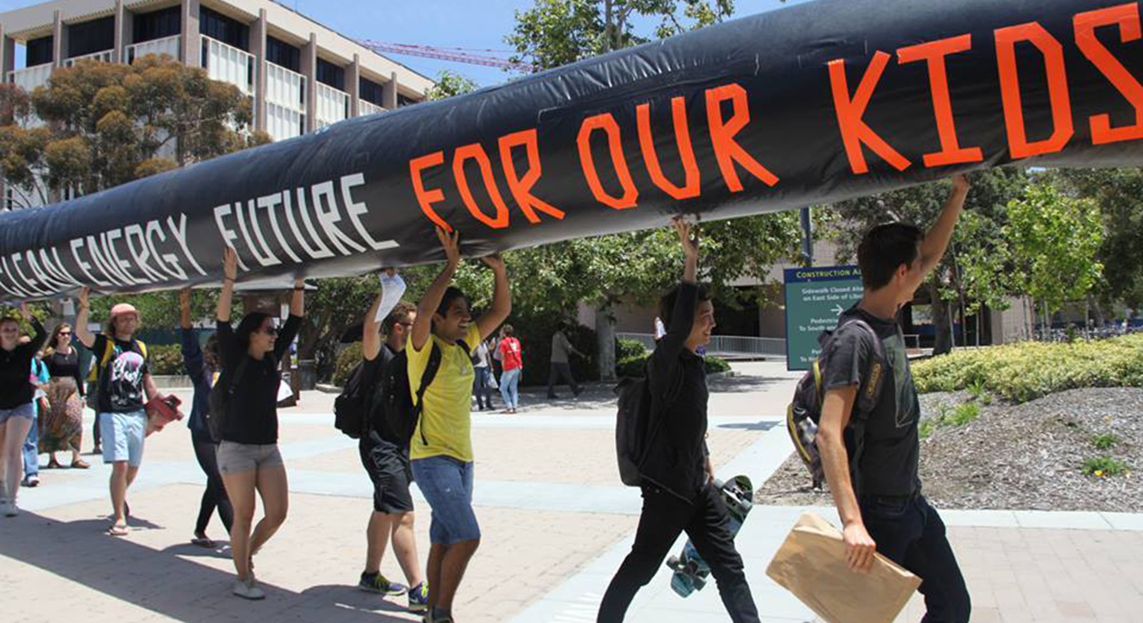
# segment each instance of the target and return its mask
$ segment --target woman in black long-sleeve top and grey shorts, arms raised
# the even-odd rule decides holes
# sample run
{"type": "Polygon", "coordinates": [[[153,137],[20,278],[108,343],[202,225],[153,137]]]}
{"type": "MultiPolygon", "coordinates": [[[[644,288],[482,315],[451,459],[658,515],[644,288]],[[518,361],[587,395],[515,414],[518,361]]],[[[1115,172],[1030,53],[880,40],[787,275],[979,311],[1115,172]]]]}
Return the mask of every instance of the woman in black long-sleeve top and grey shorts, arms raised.
{"type": "Polygon", "coordinates": [[[238,572],[233,593],[264,599],[254,577],[254,555],[286,521],[289,488],[286,466],[278,452],[278,363],[302,326],[305,281],[294,282],[289,318],[279,330],[274,318],[250,312],[230,325],[230,304],[238,276],[238,256],[231,248],[223,258],[223,286],[218,297],[219,383],[227,383],[229,403],[218,444],[218,471],[234,510],[230,547],[238,572]],[[232,383],[232,385],[231,385],[232,383]],[[233,391],[229,391],[233,388],[233,391]],[[254,499],[261,496],[265,516],[254,526],[254,499]]]}

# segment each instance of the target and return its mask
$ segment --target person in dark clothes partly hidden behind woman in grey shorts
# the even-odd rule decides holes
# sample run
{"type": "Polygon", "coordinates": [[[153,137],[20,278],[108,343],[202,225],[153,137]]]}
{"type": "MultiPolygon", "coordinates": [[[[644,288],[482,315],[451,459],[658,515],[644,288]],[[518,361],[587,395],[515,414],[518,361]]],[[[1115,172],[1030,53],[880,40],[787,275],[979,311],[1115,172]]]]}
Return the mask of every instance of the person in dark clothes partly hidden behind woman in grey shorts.
{"type": "Polygon", "coordinates": [[[194,524],[194,539],[191,543],[203,548],[217,545],[207,536],[207,524],[215,509],[218,509],[218,518],[222,525],[230,533],[230,527],[234,523],[234,509],[226,497],[226,488],[222,483],[222,475],[218,474],[218,446],[210,438],[210,430],[207,428],[206,414],[210,410],[210,388],[214,387],[214,375],[218,372],[218,338],[210,335],[207,340],[206,353],[199,347],[199,339],[191,329],[191,289],[184,288],[178,293],[179,304],[179,337],[182,340],[183,365],[186,374],[194,383],[194,398],[191,404],[191,416],[186,422],[186,428],[191,430],[191,443],[194,446],[194,459],[199,462],[199,468],[207,476],[207,488],[202,492],[202,502],[199,504],[199,518],[194,524]]]}

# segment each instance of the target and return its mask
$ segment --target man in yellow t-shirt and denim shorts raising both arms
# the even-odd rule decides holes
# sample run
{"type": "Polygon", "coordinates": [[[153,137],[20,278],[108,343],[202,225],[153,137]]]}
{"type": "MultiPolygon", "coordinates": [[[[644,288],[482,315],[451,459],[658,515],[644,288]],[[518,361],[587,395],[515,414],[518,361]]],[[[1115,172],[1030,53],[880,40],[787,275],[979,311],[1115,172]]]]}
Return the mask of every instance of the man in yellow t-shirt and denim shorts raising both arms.
{"type": "Polygon", "coordinates": [[[491,307],[473,323],[469,301],[449,284],[461,264],[458,234],[437,229],[445,249],[445,269],[425,291],[406,346],[409,391],[416,399],[433,350],[440,367],[425,388],[424,405],[409,459],[413,478],[429,507],[429,623],[453,623],[453,598],[464,569],[480,544],[480,526],[472,510],[472,381],[469,351],[512,312],[507,270],[499,256],[483,258],[496,275],[491,307]]]}

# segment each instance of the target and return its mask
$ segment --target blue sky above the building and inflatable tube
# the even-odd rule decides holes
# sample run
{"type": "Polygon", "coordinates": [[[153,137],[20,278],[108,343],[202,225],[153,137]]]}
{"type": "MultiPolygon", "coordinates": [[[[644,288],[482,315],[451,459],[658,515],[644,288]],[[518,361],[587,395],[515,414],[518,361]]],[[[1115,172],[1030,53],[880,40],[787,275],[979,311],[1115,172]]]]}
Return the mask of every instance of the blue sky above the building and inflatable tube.
{"type": "MultiPolygon", "coordinates": [[[[437,47],[506,50],[504,35],[512,31],[514,11],[534,0],[279,0],[299,13],[355,39],[437,47]]],[[[788,0],[797,5],[808,0],[788,0]]],[[[0,0],[0,10],[39,3],[0,0]]],[[[781,8],[778,0],[737,0],[735,16],[781,8]]],[[[22,50],[21,50],[22,51],[22,50]]],[[[17,54],[17,62],[22,62],[17,54]]],[[[495,67],[392,55],[392,58],[430,78],[441,70],[459,72],[481,86],[495,84],[505,73],[495,67]]]]}

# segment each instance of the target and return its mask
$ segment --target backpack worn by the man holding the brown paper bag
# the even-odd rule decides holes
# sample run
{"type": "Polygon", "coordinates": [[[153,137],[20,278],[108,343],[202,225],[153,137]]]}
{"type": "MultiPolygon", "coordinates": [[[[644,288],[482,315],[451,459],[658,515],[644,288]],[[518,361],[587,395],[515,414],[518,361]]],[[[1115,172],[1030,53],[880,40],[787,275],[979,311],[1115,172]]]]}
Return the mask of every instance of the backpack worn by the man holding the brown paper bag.
{"type": "MultiPolygon", "coordinates": [[[[857,390],[857,399],[854,404],[854,413],[866,414],[877,406],[881,398],[881,388],[885,386],[886,358],[885,345],[881,343],[877,332],[865,321],[861,318],[842,319],[833,331],[823,331],[817,338],[822,345],[821,356],[814,361],[813,366],[801,380],[793,394],[793,402],[786,410],[786,431],[790,439],[798,450],[809,475],[814,479],[814,488],[822,488],[825,482],[825,469],[822,466],[822,454],[817,448],[817,427],[822,420],[822,402],[825,399],[825,382],[822,378],[822,370],[832,355],[830,348],[831,338],[841,330],[842,326],[853,325],[863,331],[873,340],[873,356],[869,361],[869,367],[862,374],[862,383],[857,390]]],[[[864,418],[852,418],[846,431],[846,450],[849,453],[850,470],[857,466],[863,450],[865,431],[864,418]]],[[[856,486],[856,483],[855,483],[856,486]]]]}

